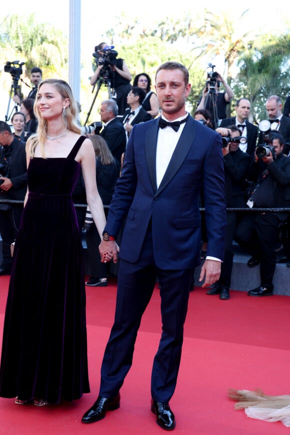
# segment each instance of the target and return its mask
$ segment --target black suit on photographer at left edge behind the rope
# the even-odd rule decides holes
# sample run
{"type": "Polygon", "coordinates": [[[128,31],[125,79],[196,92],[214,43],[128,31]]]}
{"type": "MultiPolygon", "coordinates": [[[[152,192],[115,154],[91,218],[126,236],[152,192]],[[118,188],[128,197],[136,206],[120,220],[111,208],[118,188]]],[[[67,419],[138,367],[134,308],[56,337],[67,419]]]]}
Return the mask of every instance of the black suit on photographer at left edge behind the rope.
{"type": "MultiPolygon", "coordinates": [[[[12,187],[0,189],[0,198],[24,200],[27,190],[27,167],[25,143],[14,138],[9,146],[0,147],[0,162],[8,161],[7,172],[3,174],[12,182],[12,187]]],[[[23,204],[0,203],[0,234],[2,237],[2,263],[0,268],[9,272],[12,258],[10,244],[18,231],[23,204]]]]}

